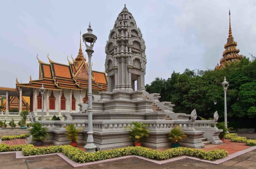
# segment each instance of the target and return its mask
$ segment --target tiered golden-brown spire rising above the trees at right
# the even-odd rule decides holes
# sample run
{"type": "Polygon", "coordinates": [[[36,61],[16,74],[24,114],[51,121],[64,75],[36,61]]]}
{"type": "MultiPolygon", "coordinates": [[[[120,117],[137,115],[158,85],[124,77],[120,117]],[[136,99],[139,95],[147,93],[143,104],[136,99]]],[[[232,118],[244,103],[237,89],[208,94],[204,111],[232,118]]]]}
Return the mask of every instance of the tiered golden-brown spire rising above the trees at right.
{"type": "Polygon", "coordinates": [[[240,61],[243,58],[243,55],[239,55],[239,49],[236,49],[237,43],[234,41],[234,37],[232,36],[231,24],[230,24],[230,11],[229,11],[229,32],[227,43],[224,45],[226,49],[222,54],[222,59],[220,59],[220,64],[217,64],[214,70],[218,70],[224,68],[226,64],[230,64],[231,62],[240,61]]]}

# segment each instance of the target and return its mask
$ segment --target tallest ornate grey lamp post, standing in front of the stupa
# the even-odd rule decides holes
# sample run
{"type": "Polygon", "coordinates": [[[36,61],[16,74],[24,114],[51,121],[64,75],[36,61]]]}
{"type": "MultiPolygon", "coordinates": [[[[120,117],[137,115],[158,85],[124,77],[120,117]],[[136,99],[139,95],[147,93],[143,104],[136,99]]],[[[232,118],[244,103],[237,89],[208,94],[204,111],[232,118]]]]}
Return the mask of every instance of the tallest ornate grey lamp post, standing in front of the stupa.
{"type": "Polygon", "coordinates": [[[86,46],[85,52],[88,54],[89,59],[89,87],[88,87],[88,132],[87,132],[87,144],[84,146],[85,151],[87,152],[95,152],[96,146],[93,144],[93,131],[92,131],[92,50],[94,43],[97,40],[97,36],[92,33],[91,24],[89,23],[89,28],[87,29],[87,33],[83,34],[83,41],[86,46]],[[89,43],[89,45],[86,44],[89,43]]]}

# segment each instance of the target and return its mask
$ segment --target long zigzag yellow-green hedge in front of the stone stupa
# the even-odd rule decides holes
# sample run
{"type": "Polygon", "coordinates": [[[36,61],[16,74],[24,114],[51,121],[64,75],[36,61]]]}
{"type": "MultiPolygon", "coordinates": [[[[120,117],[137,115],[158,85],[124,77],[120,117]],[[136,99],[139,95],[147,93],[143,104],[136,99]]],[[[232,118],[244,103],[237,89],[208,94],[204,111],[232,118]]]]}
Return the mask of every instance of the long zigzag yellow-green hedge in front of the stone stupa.
{"type": "Polygon", "coordinates": [[[97,151],[95,153],[87,153],[71,145],[58,145],[58,146],[49,146],[49,147],[23,147],[22,153],[24,156],[32,155],[42,155],[49,153],[62,152],[68,158],[78,163],[85,163],[90,161],[98,161],[108,158],[116,158],[128,155],[138,155],[142,157],[147,157],[150,159],[164,160],[177,156],[187,155],[197,158],[203,158],[206,160],[216,160],[224,158],[228,155],[228,152],[225,150],[210,150],[204,151],[193,148],[172,148],[165,151],[152,150],[146,147],[124,147],[117,148],[106,151],[97,151]]]}

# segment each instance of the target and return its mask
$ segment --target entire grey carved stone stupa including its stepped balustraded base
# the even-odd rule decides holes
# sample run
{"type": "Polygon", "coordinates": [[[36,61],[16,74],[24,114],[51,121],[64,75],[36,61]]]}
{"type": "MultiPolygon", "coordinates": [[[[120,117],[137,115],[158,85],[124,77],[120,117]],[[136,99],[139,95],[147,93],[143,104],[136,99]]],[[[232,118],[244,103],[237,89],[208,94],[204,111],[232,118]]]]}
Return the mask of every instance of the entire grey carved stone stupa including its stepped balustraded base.
{"type": "MultiPolygon", "coordinates": [[[[148,125],[149,137],[142,145],[150,148],[171,146],[168,133],[175,126],[187,134],[188,139],[181,146],[202,148],[202,136],[212,144],[221,144],[218,135],[222,130],[214,121],[196,121],[196,110],[191,115],[174,113],[171,102],[160,102],[160,94],[148,94],[144,88],[146,69],[145,42],[132,14],[126,6],[118,15],[110,31],[106,45],[105,69],[108,73],[108,89],[100,92],[100,100],[92,101],[92,130],[94,144],[98,150],[133,146],[127,126],[132,122],[148,125]],[[137,88],[135,88],[137,84],[137,88]]],[[[76,124],[83,128],[78,143],[86,143],[88,113],[86,104],[78,104],[80,112],[72,113],[71,121],[44,121],[51,137],[44,142],[68,144],[64,126],[76,124]]],[[[32,118],[31,118],[32,119],[32,118]]]]}

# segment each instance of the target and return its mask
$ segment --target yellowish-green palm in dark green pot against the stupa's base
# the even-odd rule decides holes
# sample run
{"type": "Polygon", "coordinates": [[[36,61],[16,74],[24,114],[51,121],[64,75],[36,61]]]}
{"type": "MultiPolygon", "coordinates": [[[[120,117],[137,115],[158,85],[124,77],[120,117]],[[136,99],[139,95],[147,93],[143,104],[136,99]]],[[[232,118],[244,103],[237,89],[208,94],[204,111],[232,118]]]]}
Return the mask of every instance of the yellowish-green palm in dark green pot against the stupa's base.
{"type": "Polygon", "coordinates": [[[180,147],[180,142],[188,137],[184,132],[180,131],[179,126],[175,126],[169,133],[169,139],[172,140],[172,147],[180,147]]]}

